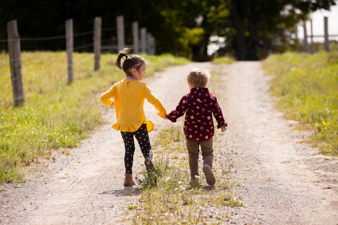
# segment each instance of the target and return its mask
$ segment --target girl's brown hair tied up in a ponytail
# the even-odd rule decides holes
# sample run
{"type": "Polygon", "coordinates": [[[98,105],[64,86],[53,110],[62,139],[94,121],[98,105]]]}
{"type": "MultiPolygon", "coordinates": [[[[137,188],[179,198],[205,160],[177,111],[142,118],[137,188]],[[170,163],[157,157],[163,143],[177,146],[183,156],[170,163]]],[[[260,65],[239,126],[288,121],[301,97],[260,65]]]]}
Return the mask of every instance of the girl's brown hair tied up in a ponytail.
{"type": "Polygon", "coordinates": [[[140,69],[142,64],[145,64],[145,59],[141,57],[140,55],[127,55],[128,53],[131,52],[131,48],[125,47],[121,51],[119,51],[117,55],[117,60],[116,60],[116,66],[120,70],[123,70],[128,77],[134,77],[130,70],[132,68],[135,68],[137,70],[140,69]],[[121,66],[121,58],[126,57],[126,59],[123,61],[123,64],[121,66]]]}

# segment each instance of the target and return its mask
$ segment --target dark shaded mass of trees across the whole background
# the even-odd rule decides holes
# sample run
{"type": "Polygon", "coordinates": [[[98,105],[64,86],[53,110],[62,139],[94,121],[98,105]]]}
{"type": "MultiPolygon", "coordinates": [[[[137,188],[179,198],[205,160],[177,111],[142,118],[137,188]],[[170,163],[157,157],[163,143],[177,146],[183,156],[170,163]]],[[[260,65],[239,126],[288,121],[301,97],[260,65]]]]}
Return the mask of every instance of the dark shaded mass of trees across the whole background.
{"type": "MultiPolygon", "coordinates": [[[[102,27],[115,27],[116,16],[124,15],[126,43],[132,43],[131,23],[139,21],[156,39],[156,53],[171,52],[207,60],[210,37],[223,37],[219,54],[239,60],[257,60],[267,52],[284,51],[297,43],[296,25],[317,9],[330,9],[336,0],[62,0],[1,3],[0,39],[6,39],[6,23],[16,19],[22,38],[60,36],[65,20],[73,18],[74,33],[93,30],[96,16],[102,27]]],[[[74,45],[92,42],[81,36],[74,45]]],[[[103,30],[102,40],[116,43],[116,31],[103,30]]],[[[6,43],[0,43],[0,49],[6,43]]],[[[25,42],[22,49],[64,49],[64,40],[25,42]]]]}

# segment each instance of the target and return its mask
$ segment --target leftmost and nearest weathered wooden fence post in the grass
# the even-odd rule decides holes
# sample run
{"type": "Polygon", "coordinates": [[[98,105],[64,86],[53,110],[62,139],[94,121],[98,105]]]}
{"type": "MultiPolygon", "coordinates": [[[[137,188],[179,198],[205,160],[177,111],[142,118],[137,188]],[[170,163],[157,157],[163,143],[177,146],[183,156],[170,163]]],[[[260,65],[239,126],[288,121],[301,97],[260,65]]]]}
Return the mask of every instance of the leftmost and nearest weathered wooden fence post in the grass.
{"type": "Polygon", "coordinates": [[[14,106],[25,101],[21,73],[20,35],[16,20],[7,23],[8,53],[10,64],[10,79],[12,81],[14,106]]]}

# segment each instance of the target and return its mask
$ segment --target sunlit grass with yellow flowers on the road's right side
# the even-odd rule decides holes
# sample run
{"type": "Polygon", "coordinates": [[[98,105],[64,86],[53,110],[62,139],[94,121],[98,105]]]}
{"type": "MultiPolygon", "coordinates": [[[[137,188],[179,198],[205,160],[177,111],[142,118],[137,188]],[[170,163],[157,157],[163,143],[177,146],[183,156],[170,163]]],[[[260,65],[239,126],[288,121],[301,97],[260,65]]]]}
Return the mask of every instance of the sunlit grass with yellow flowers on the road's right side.
{"type": "Polygon", "coordinates": [[[313,130],[322,154],[338,157],[338,51],[272,55],[263,68],[275,75],[271,90],[286,117],[313,130]]]}

